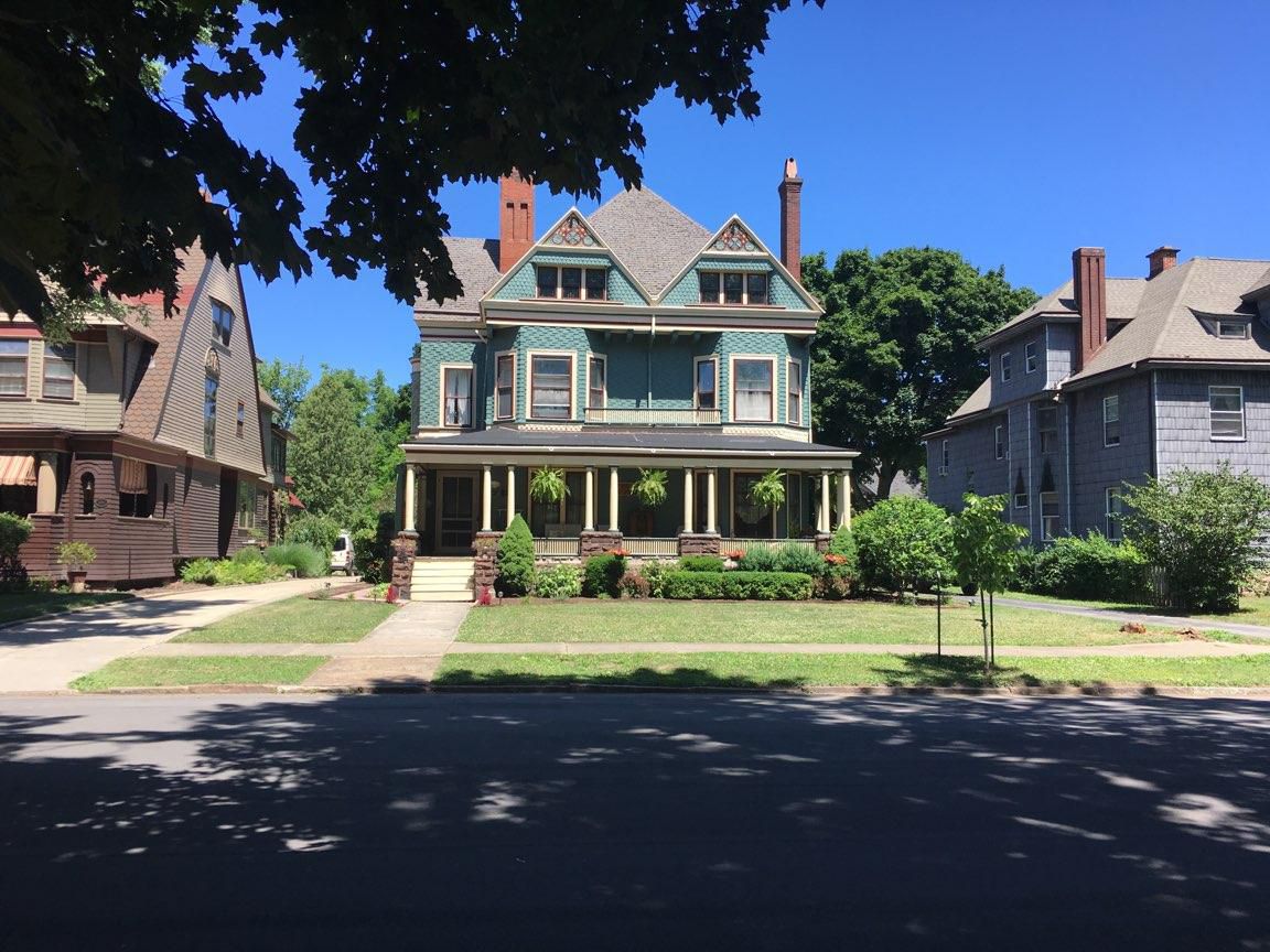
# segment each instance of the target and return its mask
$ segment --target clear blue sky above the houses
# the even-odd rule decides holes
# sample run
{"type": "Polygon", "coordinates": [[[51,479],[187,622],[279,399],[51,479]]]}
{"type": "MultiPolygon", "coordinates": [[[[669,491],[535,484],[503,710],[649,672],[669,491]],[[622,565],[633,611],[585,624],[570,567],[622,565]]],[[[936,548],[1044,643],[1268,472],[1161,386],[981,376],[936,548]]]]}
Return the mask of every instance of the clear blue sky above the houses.
{"type": "MultiPolygon", "coordinates": [[[[1118,275],[1144,273],[1161,244],[1270,258],[1266,37],[1265,0],[796,6],[756,62],[756,122],[720,127],[668,95],[645,110],[645,183],[707,227],[739,213],[775,246],[792,155],[804,253],[935,245],[1040,292],[1069,275],[1078,245],[1105,246],[1118,275]]],[[[291,147],[301,76],[269,71],[264,96],[221,114],[306,187],[316,216],[291,147]]],[[[442,199],[455,235],[497,234],[497,185],[442,199]]],[[[540,188],[537,228],[570,204],[540,188]]],[[[408,378],[410,308],[377,273],[343,281],[315,261],[300,284],[244,277],[262,357],[408,378]]]]}

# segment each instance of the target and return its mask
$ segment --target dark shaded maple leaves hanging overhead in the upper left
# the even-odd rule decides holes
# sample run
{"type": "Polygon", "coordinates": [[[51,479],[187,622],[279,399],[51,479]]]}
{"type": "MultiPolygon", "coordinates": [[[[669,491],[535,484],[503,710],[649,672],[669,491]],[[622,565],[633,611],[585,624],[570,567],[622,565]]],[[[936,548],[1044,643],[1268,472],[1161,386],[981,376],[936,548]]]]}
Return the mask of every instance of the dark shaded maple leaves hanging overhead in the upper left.
{"type": "MultiPolygon", "coordinates": [[[[823,4],[823,0],[804,3],[823,4]]],[[[403,301],[460,291],[437,203],[447,180],[513,168],[596,195],[641,180],[639,112],[663,89],[719,118],[758,114],[751,58],[791,0],[18,0],[0,10],[0,310],[56,320],[72,297],[161,291],[198,240],[265,281],[382,268],[403,301]],[[249,24],[245,27],[245,24],[249,24]],[[295,145],[328,202],[230,136],[220,100],[263,61],[307,81],[295,145]],[[180,71],[179,103],[160,93],[180,71]],[[215,201],[204,201],[201,189],[215,201]]]]}

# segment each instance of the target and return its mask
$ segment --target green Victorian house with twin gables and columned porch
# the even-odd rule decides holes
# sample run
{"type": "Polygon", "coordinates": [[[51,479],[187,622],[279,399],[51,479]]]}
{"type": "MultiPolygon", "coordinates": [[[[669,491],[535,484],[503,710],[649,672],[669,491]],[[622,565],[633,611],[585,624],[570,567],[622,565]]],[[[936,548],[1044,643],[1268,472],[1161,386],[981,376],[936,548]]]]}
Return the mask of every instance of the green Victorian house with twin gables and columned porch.
{"type": "Polygon", "coordinates": [[[503,179],[499,237],[447,239],[464,296],[414,308],[398,548],[418,559],[398,581],[470,598],[490,580],[484,539],[516,514],[544,559],[826,545],[856,453],[812,440],[822,310],[799,283],[801,187],[790,159],[777,258],[739,217],[710,230],[649,189],[535,237],[533,187],[503,179]],[[547,467],[558,501],[530,493],[547,467]],[[641,471],[665,473],[660,505],[631,493],[641,471]],[[756,505],[773,471],[784,504],[756,505]]]}

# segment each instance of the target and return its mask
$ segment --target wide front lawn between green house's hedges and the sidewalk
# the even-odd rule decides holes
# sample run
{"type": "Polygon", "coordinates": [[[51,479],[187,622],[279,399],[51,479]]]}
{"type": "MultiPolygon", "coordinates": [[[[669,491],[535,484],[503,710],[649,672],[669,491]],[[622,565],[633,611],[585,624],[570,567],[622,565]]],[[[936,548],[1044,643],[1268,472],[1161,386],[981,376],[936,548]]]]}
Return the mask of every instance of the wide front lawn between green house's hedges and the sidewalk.
{"type": "MultiPolygon", "coordinates": [[[[944,640],[978,645],[978,608],[944,607],[944,640]]],[[[519,602],[472,611],[460,641],[789,642],[935,646],[935,607],[884,602],[519,602]]],[[[1176,641],[1171,631],[1120,632],[1119,622],[997,608],[998,645],[1092,646],[1176,641]]]]}

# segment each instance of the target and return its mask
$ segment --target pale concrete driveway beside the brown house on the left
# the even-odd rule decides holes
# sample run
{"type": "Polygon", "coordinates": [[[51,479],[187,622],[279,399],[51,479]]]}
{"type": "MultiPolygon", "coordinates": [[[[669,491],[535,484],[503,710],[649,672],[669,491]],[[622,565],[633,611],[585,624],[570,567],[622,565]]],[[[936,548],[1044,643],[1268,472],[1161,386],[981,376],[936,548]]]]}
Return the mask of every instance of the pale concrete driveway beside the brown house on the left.
{"type": "Polygon", "coordinates": [[[245,608],[312,592],[326,579],[185,590],[0,628],[0,694],[65,691],[107,661],[245,608]]]}

